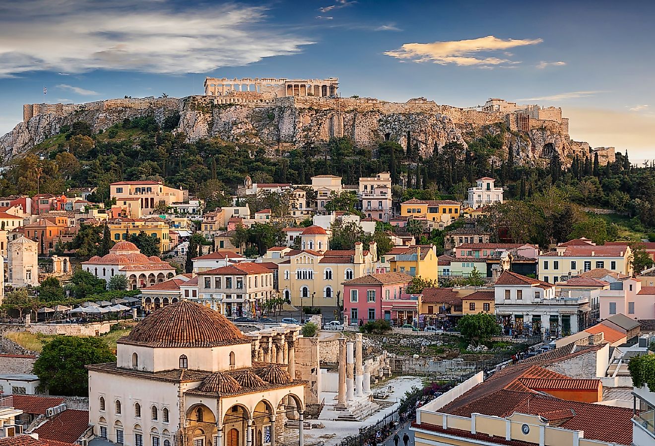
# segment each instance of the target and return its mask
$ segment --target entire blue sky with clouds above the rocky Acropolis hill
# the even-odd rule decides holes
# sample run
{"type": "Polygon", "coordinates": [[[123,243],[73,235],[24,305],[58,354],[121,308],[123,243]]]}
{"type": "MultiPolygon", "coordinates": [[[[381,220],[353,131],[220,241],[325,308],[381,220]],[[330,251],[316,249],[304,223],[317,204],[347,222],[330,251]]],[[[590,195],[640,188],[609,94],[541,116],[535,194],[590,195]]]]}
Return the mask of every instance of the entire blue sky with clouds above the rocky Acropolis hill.
{"type": "Polygon", "coordinates": [[[631,0],[0,0],[0,134],[22,104],[339,77],[342,96],[561,107],[572,139],[655,159],[653,18],[631,0]]]}

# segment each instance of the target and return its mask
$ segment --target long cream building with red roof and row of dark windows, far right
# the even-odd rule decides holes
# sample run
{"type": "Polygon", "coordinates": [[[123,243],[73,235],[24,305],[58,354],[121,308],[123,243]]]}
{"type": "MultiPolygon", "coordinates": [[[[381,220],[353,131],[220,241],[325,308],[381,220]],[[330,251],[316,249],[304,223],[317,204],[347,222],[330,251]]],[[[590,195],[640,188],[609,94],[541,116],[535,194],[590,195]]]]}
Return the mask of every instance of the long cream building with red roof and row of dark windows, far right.
{"type": "Polygon", "coordinates": [[[548,253],[539,256],[539,279],[555,283],[571,276],[595,270],[606,269],[619,274],[632,275],[632,251],[625,245],[593,244],[567,245],[563,243],[548,253]]]}

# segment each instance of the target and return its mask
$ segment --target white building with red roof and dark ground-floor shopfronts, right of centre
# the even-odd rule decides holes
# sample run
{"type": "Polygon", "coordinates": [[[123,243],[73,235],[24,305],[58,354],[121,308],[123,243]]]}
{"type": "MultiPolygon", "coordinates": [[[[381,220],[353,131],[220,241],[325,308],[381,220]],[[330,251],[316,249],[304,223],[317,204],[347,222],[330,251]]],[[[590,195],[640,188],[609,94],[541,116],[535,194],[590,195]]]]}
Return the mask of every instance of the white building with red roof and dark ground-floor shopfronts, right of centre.
{"type": "Polygon", "coordinates": [[[567,336],[588,325],[591,304],[586,296],[557,296],[555,285],[504,271],[494,284],[496,315],[507,335],[539,331],[567,336]]]}

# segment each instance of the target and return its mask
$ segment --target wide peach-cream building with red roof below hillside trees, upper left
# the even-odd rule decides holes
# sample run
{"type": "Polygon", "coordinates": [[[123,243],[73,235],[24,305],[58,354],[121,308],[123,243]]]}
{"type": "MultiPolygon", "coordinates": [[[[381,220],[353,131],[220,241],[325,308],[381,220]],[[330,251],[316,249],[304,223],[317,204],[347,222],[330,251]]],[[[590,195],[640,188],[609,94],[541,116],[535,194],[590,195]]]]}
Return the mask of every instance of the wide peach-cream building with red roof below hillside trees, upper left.
{"type": "Polygon", "coordinates": [[[123,199],[138,198],[138,209],[140,216],[149,215],[155,212],[155,207],[163,202],[165,205],[172,203],[183,203],[189,198],[189,191],[164,186],[162,182],[153,180],[143,181],[119,181],[109,185],[111,198],[115,198],[117,204],[123,199]]]}

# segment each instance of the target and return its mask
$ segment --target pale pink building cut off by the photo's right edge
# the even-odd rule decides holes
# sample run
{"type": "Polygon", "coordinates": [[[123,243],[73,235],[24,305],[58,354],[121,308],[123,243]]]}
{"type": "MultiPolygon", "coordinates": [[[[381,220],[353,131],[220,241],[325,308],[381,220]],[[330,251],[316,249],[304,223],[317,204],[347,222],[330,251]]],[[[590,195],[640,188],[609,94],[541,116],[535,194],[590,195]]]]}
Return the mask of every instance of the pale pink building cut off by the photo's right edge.
{"type": "Polygon", "coordinates": [[[623,279],[610,284],[599,296],[600,318],[625,314],[630,319],[655,319],[655,287],[642,287],[639,279],[623,279]]]}

